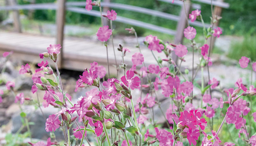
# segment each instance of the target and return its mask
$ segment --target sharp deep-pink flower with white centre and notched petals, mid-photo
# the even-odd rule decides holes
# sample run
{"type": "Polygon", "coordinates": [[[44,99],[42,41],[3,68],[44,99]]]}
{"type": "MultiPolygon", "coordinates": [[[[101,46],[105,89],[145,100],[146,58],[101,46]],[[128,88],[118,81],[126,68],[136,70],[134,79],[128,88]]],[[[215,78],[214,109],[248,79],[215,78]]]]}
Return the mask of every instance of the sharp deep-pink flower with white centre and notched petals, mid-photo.
{"type": "Polygon", "coordinates": [[[132,90],[134,90],[135,88],[138,88],[140,85],[140,78],[137,76],[133,78],[133,76],[134,76],[134,72],[128,70],[126,72],[126,76],[121,77],[122,82],[126,86],[130,87],[132,90]]]}

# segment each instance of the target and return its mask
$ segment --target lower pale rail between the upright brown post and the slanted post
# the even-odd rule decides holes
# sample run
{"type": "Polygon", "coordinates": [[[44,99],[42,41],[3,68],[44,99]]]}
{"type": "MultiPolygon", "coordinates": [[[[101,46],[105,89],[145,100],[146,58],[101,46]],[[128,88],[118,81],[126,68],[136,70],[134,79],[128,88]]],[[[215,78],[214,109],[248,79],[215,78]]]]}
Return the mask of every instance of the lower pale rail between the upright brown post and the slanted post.
{"type": "MultiPolygon", "coordinates": [[[[81,14],[88,14],[88,15],[96,16],[96,17],[101,16],[99,11],[95,11],[95,10],[87,11],[84,8],[68,7],[67,10],[72,11],[72,12],[81,13],[81,14]]],[[[146,22],[141,22],[141,21],[129,19],[129,18],[126,18],[126,17],[117,16],[115,21],[122,22],[122,23],[125,23],[125,24],[135,25],[135,26],[142,27],[142,28],[147,28],[147,29],[150,29],[150,30],[166,33],[166,34],[169,34],[169,35],[175,35],[176,34],[175,30],[171,30],[171,29],[164,28],[164,27],[159,27],[157,25],[148,24],[146,22]]]]}

